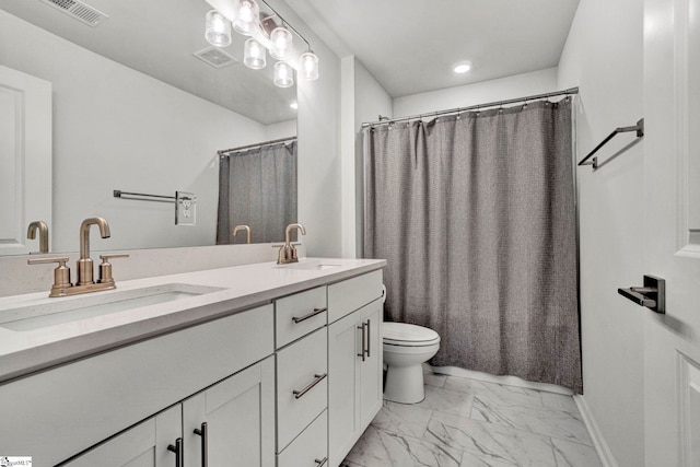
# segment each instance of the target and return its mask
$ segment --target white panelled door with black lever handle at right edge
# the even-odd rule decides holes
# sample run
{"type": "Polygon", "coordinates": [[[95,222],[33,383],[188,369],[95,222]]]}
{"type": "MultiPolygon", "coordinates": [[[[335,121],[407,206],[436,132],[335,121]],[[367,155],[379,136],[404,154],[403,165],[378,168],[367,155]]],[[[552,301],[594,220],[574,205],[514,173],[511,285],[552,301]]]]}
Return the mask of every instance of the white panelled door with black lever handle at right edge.
{"type": "MultiPolygon", "coordinates": [[[[644,1],[645,464],[700,466],[700,0],[644,1]]],[[[640,278],[640,285],[642,278],[640,278]]]]}

